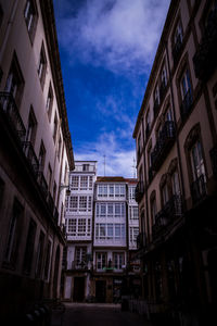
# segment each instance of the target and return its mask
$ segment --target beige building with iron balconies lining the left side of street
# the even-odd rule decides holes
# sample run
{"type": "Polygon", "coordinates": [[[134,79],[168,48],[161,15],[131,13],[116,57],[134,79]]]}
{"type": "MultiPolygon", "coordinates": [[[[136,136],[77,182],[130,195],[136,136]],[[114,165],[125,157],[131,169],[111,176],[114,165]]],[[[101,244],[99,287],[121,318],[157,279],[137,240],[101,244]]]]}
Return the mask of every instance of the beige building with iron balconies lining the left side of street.
{"type": "Polygon", "coordinates": [[[0,319],[60,297],[74,168],[51,0],[0,1],[0,319]]]}

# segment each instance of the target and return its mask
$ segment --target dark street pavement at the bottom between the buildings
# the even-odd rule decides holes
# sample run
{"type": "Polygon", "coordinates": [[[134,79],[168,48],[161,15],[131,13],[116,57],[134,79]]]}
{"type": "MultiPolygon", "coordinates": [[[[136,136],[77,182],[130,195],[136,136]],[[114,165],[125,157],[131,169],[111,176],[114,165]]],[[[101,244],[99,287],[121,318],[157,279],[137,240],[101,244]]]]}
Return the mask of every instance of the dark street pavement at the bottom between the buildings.
{"type": "Polygon", "coordinates": [[[152,326],[145,317],[122,311],[120,304],[64,303],[64,314],[53,315],[51,326],[152,326]]]}

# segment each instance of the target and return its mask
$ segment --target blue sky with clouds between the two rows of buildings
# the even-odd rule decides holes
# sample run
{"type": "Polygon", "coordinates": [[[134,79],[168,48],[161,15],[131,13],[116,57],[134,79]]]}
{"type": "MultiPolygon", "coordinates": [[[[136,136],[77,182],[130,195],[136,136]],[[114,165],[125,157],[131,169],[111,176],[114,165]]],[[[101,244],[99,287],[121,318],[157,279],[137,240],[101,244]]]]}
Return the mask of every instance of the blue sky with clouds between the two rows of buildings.
{"type": "Polygon", "coordinates": [[[53,0],[75,161],[136,176],[132,138],[169,0],[53,0]]]}

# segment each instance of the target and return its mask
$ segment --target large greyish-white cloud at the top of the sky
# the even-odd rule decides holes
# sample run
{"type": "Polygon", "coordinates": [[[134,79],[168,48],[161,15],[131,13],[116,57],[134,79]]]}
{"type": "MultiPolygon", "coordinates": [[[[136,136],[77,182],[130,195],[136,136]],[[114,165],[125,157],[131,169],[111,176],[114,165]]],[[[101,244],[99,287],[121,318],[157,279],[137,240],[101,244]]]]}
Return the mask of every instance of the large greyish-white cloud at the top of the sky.
{"type": "Polygon", "coordinates": [[[146,72],[169,0],[87,0],[78,1],[77,8],[61,2],[59,40],[72,64],[80,61],[113,73],[146,72]]]}

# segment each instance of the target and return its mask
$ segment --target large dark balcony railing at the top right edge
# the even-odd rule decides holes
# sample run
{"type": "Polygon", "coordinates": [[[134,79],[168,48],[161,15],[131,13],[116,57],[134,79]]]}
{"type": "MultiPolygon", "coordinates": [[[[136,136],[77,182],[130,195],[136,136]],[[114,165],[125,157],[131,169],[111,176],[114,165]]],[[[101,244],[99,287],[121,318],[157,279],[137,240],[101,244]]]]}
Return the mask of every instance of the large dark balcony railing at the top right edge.
{"type": "Polygon", "coordinates": [[[207,79],[217,65],[217,9],[213,10],[206,23],[202,41],[193,57],[194,71],[199,79],[207,79]]]}

